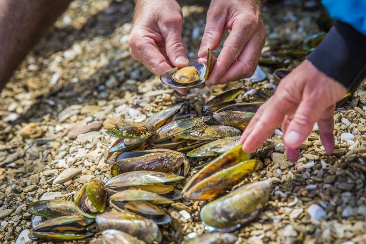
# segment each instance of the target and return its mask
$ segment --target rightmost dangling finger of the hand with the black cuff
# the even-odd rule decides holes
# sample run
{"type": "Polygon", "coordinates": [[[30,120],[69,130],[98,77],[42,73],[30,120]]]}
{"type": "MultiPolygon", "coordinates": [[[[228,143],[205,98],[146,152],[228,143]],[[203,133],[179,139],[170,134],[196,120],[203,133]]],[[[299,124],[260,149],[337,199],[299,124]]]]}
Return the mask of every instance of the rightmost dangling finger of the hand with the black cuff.
{"type": "Polygon", "coordinates": [[[318,120],[320,140],[324,145],[326,154],[331,154],[334,150],[334,109],[335,105],[328,107],[318,120]]]}

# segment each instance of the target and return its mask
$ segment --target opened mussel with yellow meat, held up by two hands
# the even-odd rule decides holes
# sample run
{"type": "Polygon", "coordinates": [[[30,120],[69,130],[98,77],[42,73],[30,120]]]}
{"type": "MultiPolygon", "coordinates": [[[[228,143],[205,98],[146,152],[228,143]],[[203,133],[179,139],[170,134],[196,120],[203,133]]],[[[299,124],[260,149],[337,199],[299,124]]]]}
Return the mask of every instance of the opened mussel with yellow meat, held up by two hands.
{"type": "Polygon", "coordinates": [[[216,62],[213,52],[208,49],[207,64],[190,61],[186,67],[172,68],[160,76],[160,80],[174,88],[193,88],[203,84],[209,77],[216,62]]]}

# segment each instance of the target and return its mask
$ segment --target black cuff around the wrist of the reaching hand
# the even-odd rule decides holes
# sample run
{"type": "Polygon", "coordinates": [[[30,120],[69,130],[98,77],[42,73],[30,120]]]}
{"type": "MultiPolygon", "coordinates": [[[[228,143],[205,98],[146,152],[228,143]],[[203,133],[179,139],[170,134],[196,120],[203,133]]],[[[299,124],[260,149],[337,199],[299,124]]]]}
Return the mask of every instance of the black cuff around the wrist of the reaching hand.
{"type": "Polygon", "coordinates": [[[336,21],[306,59],[354,92],[366,78],[366,36],[352,26],[336,21]]]}

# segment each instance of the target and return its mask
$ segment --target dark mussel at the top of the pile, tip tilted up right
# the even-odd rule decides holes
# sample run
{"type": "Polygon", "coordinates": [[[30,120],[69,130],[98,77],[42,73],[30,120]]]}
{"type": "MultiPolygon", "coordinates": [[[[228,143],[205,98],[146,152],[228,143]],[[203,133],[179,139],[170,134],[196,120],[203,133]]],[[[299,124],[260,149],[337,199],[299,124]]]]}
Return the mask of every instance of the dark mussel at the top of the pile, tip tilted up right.
{"type": "Polygon", "coordinates": [[[213,112],[222,107],[223,103],[231,102],[244,91],[243,87],[232,89],[220,93],[219,95],[206,102],[203,106],[203,114],[211,115],[213,112]]]}

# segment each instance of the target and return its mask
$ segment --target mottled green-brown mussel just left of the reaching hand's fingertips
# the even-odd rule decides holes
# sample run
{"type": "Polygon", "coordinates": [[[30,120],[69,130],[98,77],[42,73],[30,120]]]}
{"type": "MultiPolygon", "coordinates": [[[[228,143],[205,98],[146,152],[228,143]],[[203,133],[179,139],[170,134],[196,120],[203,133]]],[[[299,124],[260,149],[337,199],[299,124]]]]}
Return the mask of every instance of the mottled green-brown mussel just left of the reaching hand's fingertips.
{"type": "Polygon", "coordinates": [[[226,152],[227,150],[232,149],[236,145],[239,145],[239,141],[240,136],[226,137],[195,148],[192,151],[189,151],[186,155],[190,158],[219,155],[226,152]]]}

